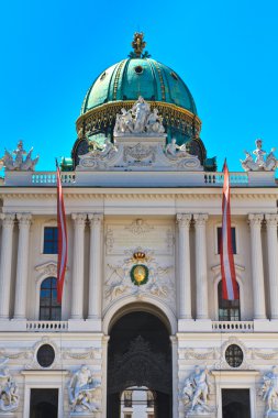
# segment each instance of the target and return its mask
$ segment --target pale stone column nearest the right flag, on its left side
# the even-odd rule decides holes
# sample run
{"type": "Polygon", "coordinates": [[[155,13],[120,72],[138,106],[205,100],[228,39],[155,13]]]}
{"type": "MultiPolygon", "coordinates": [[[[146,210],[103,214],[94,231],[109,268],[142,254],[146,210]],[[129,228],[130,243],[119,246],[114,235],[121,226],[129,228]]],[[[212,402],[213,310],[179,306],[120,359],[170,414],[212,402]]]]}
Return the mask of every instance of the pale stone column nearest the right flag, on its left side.
{"type": "Polygon", "coordinates": [[[208,319],[207,213],[194,215],[197,319],[208,319]]]}

